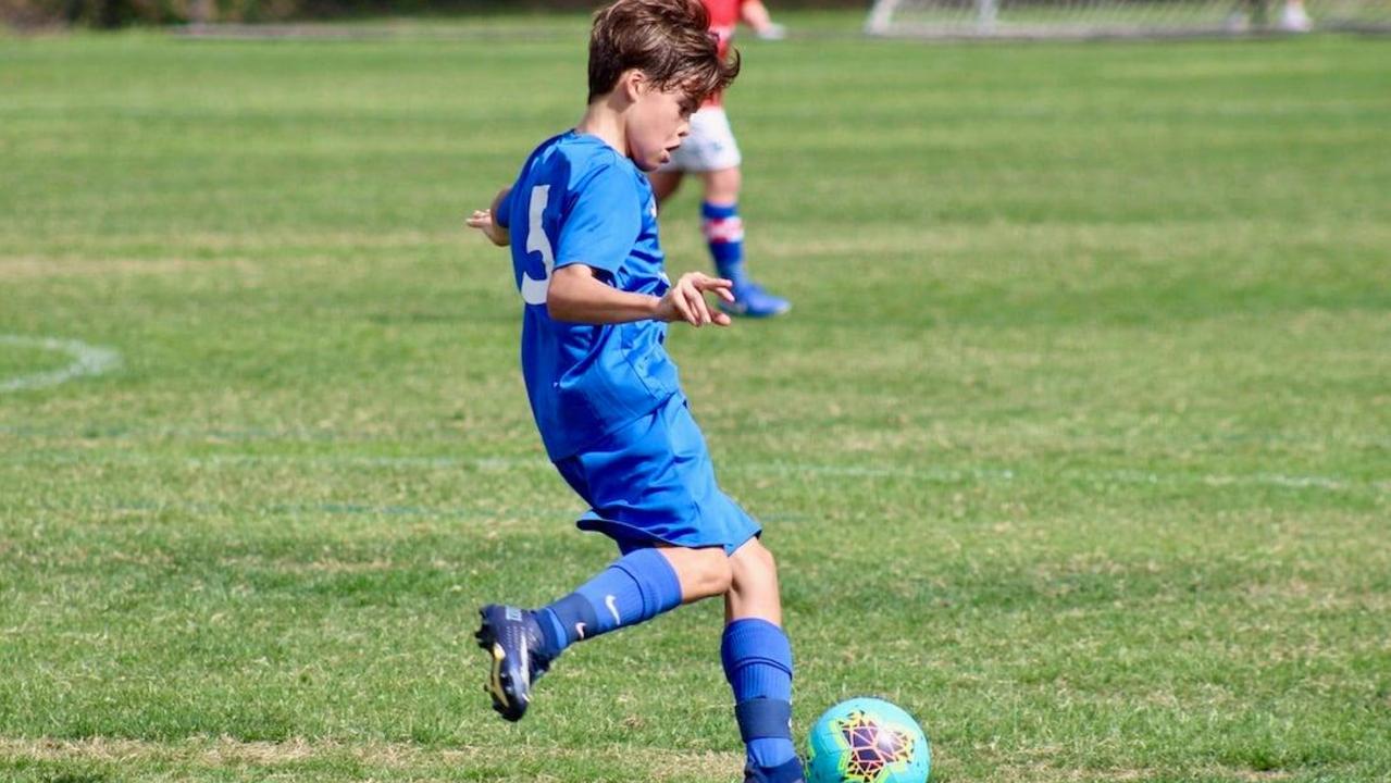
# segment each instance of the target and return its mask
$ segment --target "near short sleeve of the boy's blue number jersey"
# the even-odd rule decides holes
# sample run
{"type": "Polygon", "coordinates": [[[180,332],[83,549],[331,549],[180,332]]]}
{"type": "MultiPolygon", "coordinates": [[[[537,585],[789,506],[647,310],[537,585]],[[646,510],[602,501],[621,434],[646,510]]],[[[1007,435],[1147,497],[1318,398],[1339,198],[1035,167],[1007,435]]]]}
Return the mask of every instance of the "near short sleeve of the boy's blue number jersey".
{"type": "Polygon", "coordinates": [[[613,275],[643,231],[643,202],[630,171],[604,166],[579,182],[563,216],[555,267],[584,264],[613,275]]]}

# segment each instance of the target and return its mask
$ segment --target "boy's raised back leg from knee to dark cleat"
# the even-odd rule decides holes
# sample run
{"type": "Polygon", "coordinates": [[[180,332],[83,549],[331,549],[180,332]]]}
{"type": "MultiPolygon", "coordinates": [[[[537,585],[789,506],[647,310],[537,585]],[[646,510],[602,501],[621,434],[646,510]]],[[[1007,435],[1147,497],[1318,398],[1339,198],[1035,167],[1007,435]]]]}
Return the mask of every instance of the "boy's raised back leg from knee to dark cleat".
{"type": "Polygon", "coordinates": [[[492,708],[508,720],[520,720],[531,702],[531,684],[566,647],[652,619],[683,602],[718,595],[729,580],[722,549],[644,547],[534,612],[484,606],[476,636],[479,647],[492,656],[487,683],[492,708]]]}

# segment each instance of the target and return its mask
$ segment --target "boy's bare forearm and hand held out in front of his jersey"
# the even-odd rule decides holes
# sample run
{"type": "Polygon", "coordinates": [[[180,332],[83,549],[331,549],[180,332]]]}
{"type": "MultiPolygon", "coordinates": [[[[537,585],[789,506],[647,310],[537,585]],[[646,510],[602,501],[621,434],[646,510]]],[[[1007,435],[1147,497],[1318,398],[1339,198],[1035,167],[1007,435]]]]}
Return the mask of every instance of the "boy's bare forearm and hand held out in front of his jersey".
{"type": "Polygon", "coordinates": [[[705,292],[734,300],[732,281],[701,273],[683,274],[661,298],[619,291],[594,277],[594,267],[568,264],[551,274],[545,309],[552,318],[574,324],[626,324],[658,320],[686,321],[693,327],[727,327],[729,316],[711,309],[705,292]]]}

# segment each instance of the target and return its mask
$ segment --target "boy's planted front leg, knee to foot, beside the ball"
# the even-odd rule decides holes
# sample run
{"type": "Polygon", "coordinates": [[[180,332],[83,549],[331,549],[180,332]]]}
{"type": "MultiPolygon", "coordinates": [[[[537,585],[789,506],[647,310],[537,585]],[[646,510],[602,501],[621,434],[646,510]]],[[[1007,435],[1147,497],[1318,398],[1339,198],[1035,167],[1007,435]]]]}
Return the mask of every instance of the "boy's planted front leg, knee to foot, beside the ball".
{"type": "Polygon", "coordinates": [[[730,556],[721,661],[734,691],[734,716],[744,740],[746,783],[801,783],[791,740],[791,645],[782,630],[778,567],[751,538],[730,556]]]}

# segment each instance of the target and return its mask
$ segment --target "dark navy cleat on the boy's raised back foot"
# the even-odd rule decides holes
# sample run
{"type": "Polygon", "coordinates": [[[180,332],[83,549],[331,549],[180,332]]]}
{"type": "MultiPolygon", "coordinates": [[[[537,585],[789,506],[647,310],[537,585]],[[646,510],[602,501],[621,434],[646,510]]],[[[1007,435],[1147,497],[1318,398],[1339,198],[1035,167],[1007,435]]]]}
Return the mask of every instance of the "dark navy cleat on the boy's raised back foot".
{"type": "Polygon", "coordinates": [[[492,697],[492,709],[515,723],[531,704],[531,684],[551,668],[551,659],[538,652],[541,626],[531,612],[516,606],[492,604],[479,615],[483,626],[473,636],[492,663],[483,690],[492,697]]]}

